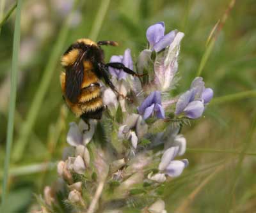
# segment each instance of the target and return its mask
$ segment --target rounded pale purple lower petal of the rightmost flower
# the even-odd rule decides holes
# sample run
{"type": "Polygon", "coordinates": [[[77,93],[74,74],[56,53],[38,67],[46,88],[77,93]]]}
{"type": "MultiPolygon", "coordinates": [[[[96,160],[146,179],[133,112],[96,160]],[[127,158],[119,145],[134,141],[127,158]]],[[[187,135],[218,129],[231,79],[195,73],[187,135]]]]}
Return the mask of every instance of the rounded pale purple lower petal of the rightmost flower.
{"type": "Polygon", "coordinates": [[[192,101],[184,108],[184,113],[189,119],[197,119],[201,117],[204,112],[204,104],[202,101],[192,101]]]}

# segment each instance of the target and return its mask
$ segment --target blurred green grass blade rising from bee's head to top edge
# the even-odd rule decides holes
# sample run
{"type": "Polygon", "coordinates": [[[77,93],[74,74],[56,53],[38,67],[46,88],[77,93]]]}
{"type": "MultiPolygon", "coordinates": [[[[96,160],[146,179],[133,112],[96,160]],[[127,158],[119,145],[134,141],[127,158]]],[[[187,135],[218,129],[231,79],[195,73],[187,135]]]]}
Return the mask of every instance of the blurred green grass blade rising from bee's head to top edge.
{"type": "Polygon", "coordinates": [[[103,20],[108,11],[109,3],[110,0],[102,0],[100,3],[99,10],[93,22],[92,31],[89,34],[89,38],[92,40],[97,40],[97,37],[99,36],[100,28],[102,27],[103,20]]]}

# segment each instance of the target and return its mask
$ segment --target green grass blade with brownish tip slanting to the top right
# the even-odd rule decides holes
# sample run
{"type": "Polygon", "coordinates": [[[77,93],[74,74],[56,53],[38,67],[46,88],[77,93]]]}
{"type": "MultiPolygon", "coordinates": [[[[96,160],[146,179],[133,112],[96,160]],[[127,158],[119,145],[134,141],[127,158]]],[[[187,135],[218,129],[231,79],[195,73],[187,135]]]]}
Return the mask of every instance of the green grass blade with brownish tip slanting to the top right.
{"type": "Polygon", "coordinates": [[[211,55],[212,49],[214,47],[214,43],[218,38],[218,34],[220,33],[221,29],[223,28],[230,11],[232,10],[232,8],[234,8],[235,3],[236,3],[236,0],[230,1],[230,3],[228,4],[227,10],[221,17],[221,20],[218,20],[217,24],[215,24],[215,26],[213,27],[213,29],[207,39],[207,43],[209,43],[209,45],[207,45],[206,50],[202,56],[196,76],[200,76],[202,74],[202,71],[204,70],[204,66],[205,66],[206,62],[208,61],[209,56],[211,55]],[[216,34],[215,34],[215,36],[212,36],[215,28],[216,28],[216,34]]]}

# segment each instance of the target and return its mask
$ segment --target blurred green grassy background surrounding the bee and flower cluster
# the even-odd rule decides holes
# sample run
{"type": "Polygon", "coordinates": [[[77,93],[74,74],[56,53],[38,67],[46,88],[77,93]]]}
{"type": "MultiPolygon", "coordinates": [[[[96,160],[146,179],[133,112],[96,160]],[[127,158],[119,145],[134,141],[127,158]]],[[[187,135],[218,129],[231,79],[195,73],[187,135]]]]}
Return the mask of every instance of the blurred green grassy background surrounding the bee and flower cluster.
{"type": "MultiPolygon", "coordinates": [[[[4,14],[14,3],[6,1],[4,14]]],[[[234,8],[230,0],[24,0],[8,210],[36,209],[33,193],[42,194],[44,186],[57,178],[56,161],[67,146],[68,122],[75,119],[65,108],[59,80],[60,56],[68,45],[77,38],[115,40],[119,47],[104,47],[106,61],[128,47],[135,60],[147,47],[147,27],[164,21],[166,32],[178,29],[185,33],[177,92],[189,88],[200,64],[205,65],[205,84],[214,89],[204,117],[183,129],[190,165],[164,187],[166,210],[256,212],[255,17],[254,0],[237,1],[234,8]],[[211,49],[207,39],[218,20],[222,20],[217,27],[220,31],[215,31],[211,49]]],[[[0,34],[1,180],[14,24],[15,11],[0,34]]]]}

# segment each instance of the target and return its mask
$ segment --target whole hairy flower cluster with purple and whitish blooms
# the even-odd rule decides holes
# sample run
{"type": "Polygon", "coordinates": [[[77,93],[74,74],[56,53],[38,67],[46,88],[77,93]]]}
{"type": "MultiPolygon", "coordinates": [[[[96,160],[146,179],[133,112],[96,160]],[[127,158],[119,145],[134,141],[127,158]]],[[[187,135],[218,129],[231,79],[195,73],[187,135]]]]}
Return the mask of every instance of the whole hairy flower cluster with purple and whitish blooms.
{"type": "Polygon", "coordinates": [[[177,59],[184,34],[174,30],[164,35],[164,30],[163,22],[148,27],[149,45],[137,66],[129,49],[111,57],[111,62],[145,75],[138,80],[109,68],[113,84],[133,103],[107,88],[102,92],[102,120],[90,120],[90,128],[84,121],[70,123],[70,147],[57,166],[61,189],[45,187],[45,212],[65,207],[73,212],[123,212],[134,208],[129,205],[134,199],[143,203],[136,204],[141,212],[166,212],[156,189],[188,166],[188,159],[181,157],[186,152],[182,121],[202,116],[213,91],[197,77],[187,92],[170,95],[179,79],[177,59]]]}

